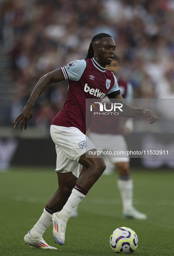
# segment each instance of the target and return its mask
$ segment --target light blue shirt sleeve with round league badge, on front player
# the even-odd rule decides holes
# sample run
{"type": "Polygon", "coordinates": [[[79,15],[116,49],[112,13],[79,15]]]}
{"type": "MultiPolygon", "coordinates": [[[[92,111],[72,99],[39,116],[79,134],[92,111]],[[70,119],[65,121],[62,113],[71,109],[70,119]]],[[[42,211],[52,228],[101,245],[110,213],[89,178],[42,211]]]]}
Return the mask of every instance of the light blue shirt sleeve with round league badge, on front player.
{"type": "Polygon", "coordinates": [[[79,81],[86,68],[85,60],[75,60],[61,69],[64,80],[79,81]]]}

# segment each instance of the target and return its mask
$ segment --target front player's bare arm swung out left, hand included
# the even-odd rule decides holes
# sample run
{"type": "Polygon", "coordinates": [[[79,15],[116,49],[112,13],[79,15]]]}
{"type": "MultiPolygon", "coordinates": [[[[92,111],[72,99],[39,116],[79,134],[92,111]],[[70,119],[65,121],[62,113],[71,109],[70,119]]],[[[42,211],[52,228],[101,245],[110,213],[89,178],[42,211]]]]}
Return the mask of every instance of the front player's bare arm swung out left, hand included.
{"type": "Polygon", "coordinates": [[[45,91],[45,89],[47,88],[47,86],[49,86],[50,83],[56,83],[63,80],[64,80],[64,77],[60,69],[54,70],[42,76],[39,79],[39,82],[35,86],[34,90],[32,91],[32,94],[26,106],[23,108],[21,114],[17,116],[16,119],[14,120],[14,123],[16,123],[14,125],[14,128],[16,128],[16,126],[22,121],[19,132],[22,131],[23,126],[24,126],[24,129],[26,130],[29,119],[33,117],[33,109],[39,96],[45,91]]]}

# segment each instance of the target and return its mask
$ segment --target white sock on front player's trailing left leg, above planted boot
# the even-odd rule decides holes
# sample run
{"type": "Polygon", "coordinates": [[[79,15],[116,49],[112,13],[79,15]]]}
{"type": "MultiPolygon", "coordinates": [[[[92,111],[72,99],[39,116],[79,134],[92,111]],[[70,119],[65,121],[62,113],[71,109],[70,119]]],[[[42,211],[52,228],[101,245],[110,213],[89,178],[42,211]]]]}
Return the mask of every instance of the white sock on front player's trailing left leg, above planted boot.
{"type": "Polygon", "coordinates": [[[30,230],[32,237],[42,237],[45,230],[52,224],[52,214],[44,209],[40,219],[30,230]]]}

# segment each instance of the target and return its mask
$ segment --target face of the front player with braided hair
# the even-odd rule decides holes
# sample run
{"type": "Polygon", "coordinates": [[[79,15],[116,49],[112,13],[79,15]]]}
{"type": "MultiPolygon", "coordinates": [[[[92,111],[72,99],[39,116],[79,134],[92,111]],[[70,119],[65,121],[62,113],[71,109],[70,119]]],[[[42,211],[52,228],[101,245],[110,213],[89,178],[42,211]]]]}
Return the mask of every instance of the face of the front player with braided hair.
{"type": "Polygon", "coordinates": [[[112,62],[115,42],[112,37],[103,37],[96,46],[94,46],[94,59],[103,68],[112,62]]]}

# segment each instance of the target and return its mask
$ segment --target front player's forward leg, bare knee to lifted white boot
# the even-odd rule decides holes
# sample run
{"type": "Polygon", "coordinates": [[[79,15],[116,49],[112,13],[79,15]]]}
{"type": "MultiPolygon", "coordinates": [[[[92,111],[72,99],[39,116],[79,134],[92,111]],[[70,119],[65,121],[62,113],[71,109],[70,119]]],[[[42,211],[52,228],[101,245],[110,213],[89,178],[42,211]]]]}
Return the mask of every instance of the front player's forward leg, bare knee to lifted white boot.
{"type": "Polygon", "coordinates": [[[56,242],[61,245],[64,244],[67,221],[73,209],[86,196],[88,190],[102,175],[106,167],[105,162],[101,157],[86,158],[86,154],[80,157],[79,163],[84,165],[87,170],[78,178],[77,183],[72,189],[72,193],[69,196],[63,209],[60,212],[54,213],[52,215],[53,236],[56,242]]]}

